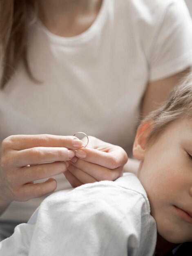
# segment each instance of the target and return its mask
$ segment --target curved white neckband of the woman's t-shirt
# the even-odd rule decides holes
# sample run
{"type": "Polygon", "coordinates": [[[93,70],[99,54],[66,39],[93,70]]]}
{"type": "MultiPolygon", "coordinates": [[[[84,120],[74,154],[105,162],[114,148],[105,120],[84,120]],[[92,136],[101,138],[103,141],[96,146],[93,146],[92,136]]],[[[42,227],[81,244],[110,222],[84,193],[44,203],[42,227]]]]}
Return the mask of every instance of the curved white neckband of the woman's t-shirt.
{"type": "Polygon", "coordinates": [[[87,40],[90,40],[95,34],[97,34],[97,31],[100,29],[102,24],[105,22],[105,19],[107,15],[105,14],[105,8],[107,5],[108,0],[103,0],[100,10],[98,12],[98,15],[92,25],[85,30],[83,33],[78,34],[76,36],[71,37],[64,37],[64,36],[58,36],[45,27],[45,25],[38,19],[37,24],[40,29],[44,31],[44,33],[47,35],[49,40],[54,44],[59,45],[76,45],[80,43],[85,43],[87,40]]]}

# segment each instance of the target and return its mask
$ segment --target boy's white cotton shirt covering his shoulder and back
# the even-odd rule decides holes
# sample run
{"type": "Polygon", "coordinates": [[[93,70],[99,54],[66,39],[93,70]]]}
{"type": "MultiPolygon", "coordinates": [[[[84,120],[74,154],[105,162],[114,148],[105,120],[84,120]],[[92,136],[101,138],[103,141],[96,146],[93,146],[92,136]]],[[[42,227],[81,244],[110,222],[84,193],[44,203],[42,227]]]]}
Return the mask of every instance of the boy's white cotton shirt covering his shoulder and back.
{"type": "Polygon", "coordinates": [[[34,222],[17,226],[0,255],[152,256],[156,245],[147,195],[130,173],[50,195],[34,222]]]}

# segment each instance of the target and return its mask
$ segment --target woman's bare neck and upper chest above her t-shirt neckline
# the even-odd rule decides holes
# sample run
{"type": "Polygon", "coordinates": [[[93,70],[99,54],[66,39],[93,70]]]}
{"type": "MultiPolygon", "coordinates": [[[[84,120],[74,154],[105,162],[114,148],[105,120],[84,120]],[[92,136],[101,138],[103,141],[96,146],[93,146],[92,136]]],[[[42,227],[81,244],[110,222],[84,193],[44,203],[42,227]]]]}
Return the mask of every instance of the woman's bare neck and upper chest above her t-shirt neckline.
{"type": "Polygon", "coordinates": [[[38,16],[58,36],[76,36],[96,19],[103,0],[38,0],[38,16]]]}

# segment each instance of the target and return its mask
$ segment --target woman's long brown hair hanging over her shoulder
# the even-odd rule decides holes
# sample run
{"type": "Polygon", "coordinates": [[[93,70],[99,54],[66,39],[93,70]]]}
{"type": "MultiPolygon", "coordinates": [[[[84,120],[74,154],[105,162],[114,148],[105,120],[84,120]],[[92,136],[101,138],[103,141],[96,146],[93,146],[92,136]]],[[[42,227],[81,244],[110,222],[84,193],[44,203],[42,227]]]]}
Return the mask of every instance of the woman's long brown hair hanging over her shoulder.
{"type": "Polygon", "coordinates": [[[27,24],[33,0],[0,0],[0,88],[4,88],[23,61],[27,74],[34,80],[27,61],[27,24]]]}

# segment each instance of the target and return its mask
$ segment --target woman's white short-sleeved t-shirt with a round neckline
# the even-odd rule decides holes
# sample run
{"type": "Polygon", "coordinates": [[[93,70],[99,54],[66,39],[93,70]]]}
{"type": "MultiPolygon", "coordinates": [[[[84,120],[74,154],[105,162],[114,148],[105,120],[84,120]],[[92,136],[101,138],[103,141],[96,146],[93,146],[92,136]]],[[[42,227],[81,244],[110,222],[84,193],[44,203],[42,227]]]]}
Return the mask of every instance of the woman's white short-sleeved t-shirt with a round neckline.
{"type": "MultiPolygon", "coordinates": [[[[0,91],[0,141],[14,134],[83,131],[130,155],[148,81],[192,65],[192,21],[183,0],[103,0],[98,17],[71,38],[29,26],[29,64],[0,91]]],[[[69,187],[58,175],[58,189],[69,187]]],[[[42,198],[13,202],[4,220],[28,220],[42,198]]]]}

